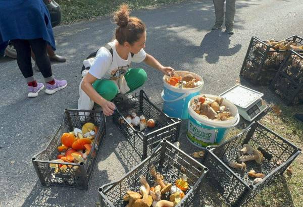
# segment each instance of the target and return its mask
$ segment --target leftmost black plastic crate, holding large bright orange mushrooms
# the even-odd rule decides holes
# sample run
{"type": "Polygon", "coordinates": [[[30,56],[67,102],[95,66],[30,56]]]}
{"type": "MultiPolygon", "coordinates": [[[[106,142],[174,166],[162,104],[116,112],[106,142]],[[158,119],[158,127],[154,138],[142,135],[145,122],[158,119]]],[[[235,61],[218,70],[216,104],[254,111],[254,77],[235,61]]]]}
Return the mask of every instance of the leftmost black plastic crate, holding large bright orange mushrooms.
{"type": "Polygon", "coordinates": [[[58,185],[75,187],[87,190],[88,182],[91,177],[97,154],[103,143],[106,134],[105,117],[102,112],[87,110],[66,109],[63,120],[56,133],[47,144],[46,148],[32,158],[32,163],[42,185],[58,185]],[[81,113],[80,113],[81,112],[81,113]],[[83,112],[90,113],[89,116],[83,112]],[[79,115],[81,114],[81,115],[79,115]],[[57,147],[61,144],[61,136],[64,132],[73,131],[73,128],[81,128],[86,122],[91,122],[98,127],[98,131],[92,142],[92,148],[84,163],[60,163],[63,165],[72,165],[73,168],[59,169],[51,168],[50,162],[57,160],[59,154],[57,147]],[[75,167],[77,166],[77,167],[75,167]],[[77,169],[75,169],[77,168],[77,169]]]}

